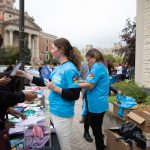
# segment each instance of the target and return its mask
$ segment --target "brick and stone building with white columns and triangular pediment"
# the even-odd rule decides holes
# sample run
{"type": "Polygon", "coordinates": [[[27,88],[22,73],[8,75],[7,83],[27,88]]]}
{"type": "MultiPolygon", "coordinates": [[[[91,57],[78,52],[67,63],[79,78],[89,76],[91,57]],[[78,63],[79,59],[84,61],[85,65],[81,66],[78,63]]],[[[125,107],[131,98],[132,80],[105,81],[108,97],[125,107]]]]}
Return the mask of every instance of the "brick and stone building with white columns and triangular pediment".
{"type": "MultiPolygon", "coordinates": [[[[4,47],[19,46],[19,10],[13,8],[14,2],[15,0],[0,0],[0,34],[4,47]]],[[[25,13],[24,24],[25,39],[28,40],[28,47],[32,54],[31,64],[41,64],[48,59],[50,44],[57,37],[43,33],[27,13],[25,13]]]]}

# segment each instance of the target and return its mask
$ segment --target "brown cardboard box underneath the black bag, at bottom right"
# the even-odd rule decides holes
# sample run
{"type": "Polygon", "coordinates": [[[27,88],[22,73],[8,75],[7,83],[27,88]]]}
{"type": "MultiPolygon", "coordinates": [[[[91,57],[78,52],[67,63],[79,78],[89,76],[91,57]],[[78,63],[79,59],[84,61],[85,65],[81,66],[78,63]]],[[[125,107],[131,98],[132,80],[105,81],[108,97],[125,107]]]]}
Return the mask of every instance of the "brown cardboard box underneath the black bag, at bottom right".
{"type": "MultiPolygon", "coordinates": [[[[120,135],[117,132],[114,132],[108,129],[107,132],[107,150],[131,150],[131,147],[128,143],[125,143],[122,139],[119,138],[120,135]]],[[[133,144],[134,150],[141,150],[140,147],[136,146],[136,143],[133,144]]],[[[146,150],[150,150],[150,147],[147,146],[146,150]]]]}

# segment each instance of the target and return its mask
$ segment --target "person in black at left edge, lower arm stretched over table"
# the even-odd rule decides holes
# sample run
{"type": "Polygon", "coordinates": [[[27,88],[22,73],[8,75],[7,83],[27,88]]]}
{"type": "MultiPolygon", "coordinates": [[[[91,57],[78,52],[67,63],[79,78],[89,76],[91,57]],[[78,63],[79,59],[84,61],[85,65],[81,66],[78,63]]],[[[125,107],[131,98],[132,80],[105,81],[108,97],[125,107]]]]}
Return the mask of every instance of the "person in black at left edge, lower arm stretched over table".
{"type": "Polygon", "coordinates": [[[7,120],[7,110],[8,108],[16,105],[17,103],[24,102],[25,100],[33,100],[36,96],[32,92],[17,92],[11,93],[8,91],[0,90],[0,139],[5,139],[7,142],[1,143],[1,149],[11,150],[9,133],[8,130],[11,127],[10,123],[7,120]]]}

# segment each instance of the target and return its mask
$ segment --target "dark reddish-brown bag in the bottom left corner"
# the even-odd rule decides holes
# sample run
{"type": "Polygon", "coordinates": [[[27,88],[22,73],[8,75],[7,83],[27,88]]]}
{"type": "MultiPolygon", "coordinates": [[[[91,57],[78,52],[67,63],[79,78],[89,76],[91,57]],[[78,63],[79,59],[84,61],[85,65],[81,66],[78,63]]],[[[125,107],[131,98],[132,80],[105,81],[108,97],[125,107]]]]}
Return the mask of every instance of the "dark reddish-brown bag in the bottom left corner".
{"type": "Polygon", "coordinates": [[[2,150],[11,150],[9,133],[7,129],[0,131],[0,147],[2,150]]]}

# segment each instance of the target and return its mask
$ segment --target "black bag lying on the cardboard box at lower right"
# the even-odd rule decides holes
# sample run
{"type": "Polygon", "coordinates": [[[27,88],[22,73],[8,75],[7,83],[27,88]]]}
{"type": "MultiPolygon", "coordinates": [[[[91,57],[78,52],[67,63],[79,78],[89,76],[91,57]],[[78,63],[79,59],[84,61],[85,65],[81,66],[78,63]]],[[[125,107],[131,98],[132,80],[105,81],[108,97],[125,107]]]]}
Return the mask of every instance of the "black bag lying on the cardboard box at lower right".
{"type": "Polygon", "coordinates": [[[125,142],[132,145],[132,140],[134,140],[139,147],[142,149],[146,148],[146,138],[144,137],[142,130],[137,127],[135,123],[127,122],[120,126],[119,134],[124,139],[125,142]]]}

